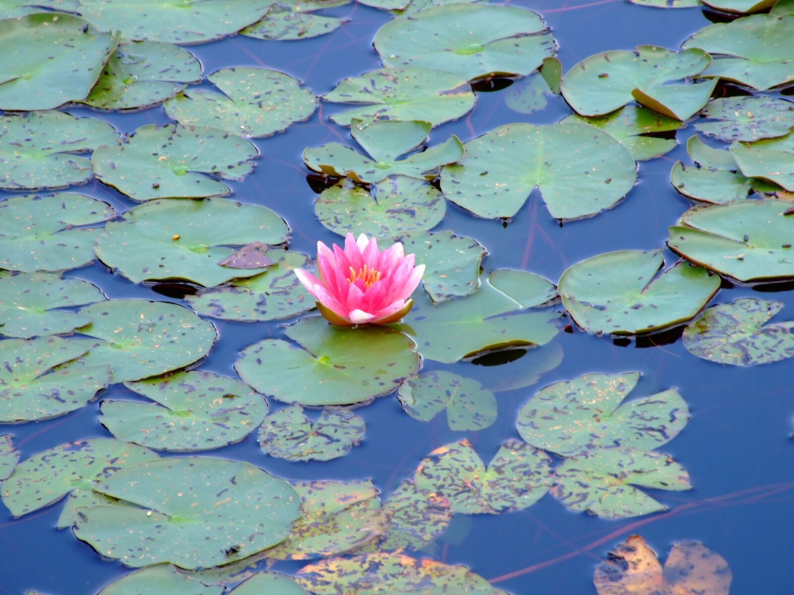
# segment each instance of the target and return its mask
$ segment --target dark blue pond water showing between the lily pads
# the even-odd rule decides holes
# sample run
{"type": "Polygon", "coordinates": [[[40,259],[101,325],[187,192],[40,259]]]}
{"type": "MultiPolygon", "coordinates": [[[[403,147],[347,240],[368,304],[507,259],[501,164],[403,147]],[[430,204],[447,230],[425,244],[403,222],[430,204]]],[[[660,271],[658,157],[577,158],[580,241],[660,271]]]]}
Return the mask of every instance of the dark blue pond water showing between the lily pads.
{"type": "MultiPolygon", "coordinates": [[[[620,0],[522,0],[511,4],[538,12],[550,25],[564,72],[596,52],[634,48],[638,44],[679,48],[688,36],[711,22],[700,8],[654,10],[620,0]]],[[[233,36],[189,49],[201,60],[205,73],[229,66],[267,67],[302,80],[319,96],[345,77],[381,67],[372,48],[372,37],[391,19],[387,11],[358,4],[326,13],[345,16],[349,22],[309,40],[262,41],[233,36]]],[[[211,88],[206,82],[202,86],[211,88]]],[[[534,113],[516,113],[505,105],[506,93],[507,90],[478,91],[476,109],[467,117],[435,128],[431,141],[440,142],[450,134],[465,141],[499,125],[548,124],[572,113],[561,98],[549,98],[549,105],[534,113]]],[[[317,194],[307,182],[308,171],[301,153],[306,147],[331,141],[355,146],[346,129],[328,120],[331,113],[342,109],[345,106],[321,102],[320,109],[308,121],[292,125],[282,134],[252,140],[261,152],[256,168],[245,181],[229,182],[233,199],[267,205],[289,223],[291,250],[314,255],[318,240],[329,245],[340,240],[314,216],[312,205],[317,194]]],[[[132,133],[141,125],[169,122],[160,106],[121,114],[83,108],[68,111],[108,121],[125,133],[132,133]]],[[[507,224],[471,217],[449,203],[443,221],[435,229],[450,229],[479,241],[488,250],[485,271],[523,269],[555,282],[567,267],[592,255],[661,247],[667,240],[669,225],[690,205],[671,186],[669,172],[676,159],[688,163],[686,140],[693,132],[691,125],[685,126],[677,132],[679,144],[672,152],[640,163],[637,186],[625,201],[598,217],[560,225],[543,206],[538,190],[534,190],[507,224]]],[[[137,204],[97,181],[78,186],[76,191],[109,202],[119,212],[137,204]]],[[[667,263],[676,261],[676,255],[666,248],[664,254],[667,263]]],[[[178,297],[155,291],[151,285],[134,285],[121,274],[111,273],[102,263],[67,271],[65,276],[93,282],[110,299],[144,298],[184,304],[178,297]]],[[[785,306],[776,320],[794,319],[790,287],[762,289],[763,292],[725,282],[715,301],[780,300],[785,306]]],[[[562,309],[561,305],[555,307],[562,309]]],[[[563,324],[570,322],[567,319],[563,324]]],[[[284,321],[214,323],[220,338],[198,369],[218,374],[236,377],[233,363],[240,351],[264,338],[283,336],[284,321]]],[[[427,423],[415,420],[390,395],[356,409],[367,424],[364,442],[339,459],[325,463],[276,459],[260,450],[256,432],[241,443],[206,455],[247,461],[288,480],[371,478],[385,498],[399,482],[414,474],[422,457],[441,445],[468,438],[482,459],[490,460],[503,440],[518,437],[518,409],[543,386],[589,372],[639,371],[642,379],[635,397],[676,387],[691,412],[686,428],[661,451],[688,470],[693,489],[648,490],[667,506],[667,512],[606,520],[571,512],[546,495],[518,512],[456,515],[445,534],[430,548],[431,554],[418,555],[468,566],[499,589],[515,595],[595,593],[595,565],[626,537],[642,535],[660,559],[664,559],[673,543],[692,539],[727,561],[733,574],[733,593],[790,593],[794,581],[794,566],[790,563],[794,547],[794,360],[731,367],[691,355],[680,340],[680,332],[638,341],[612,340],[575,326],[541,348],[560,351],[561,363],[542,373],[531,386],[497,393],[498,418],[479,432],[453,432],[444,415],[427,423]]],[[[511,353],[522,355],[523,351],[511,353]]],[[[537,357],[534,351],[527,351],[515,362],[499,367],[469,361],[441,364],[426,359],[423,370],[451,370],[493,386],[495,382],[509,382],[511,375],[518,376],[534,365],[537,357]]],[[[5,425],[0,433],[13,435],[21,460],[67,441],[108,437],[109,432],[98,422],[99,401],[119,397],[136,398],[123,385],[114,384],[100,394],[98,401],[64,417],[5,425]]],[[[272,401],[272,409],[276,406],[280,405],[272,401]]],[[[0,593],[16,595],[36,589],[52,595],[87,595],[129,572],[118,561],[100,559],[91,547],[75,539],[70,529],[56,529],[61,506],[52,505],[18,519],[0,508],[0,593]]],[[[277,562],[273,570],[294,574],[300,566],[300,562],[277,562]]]]}

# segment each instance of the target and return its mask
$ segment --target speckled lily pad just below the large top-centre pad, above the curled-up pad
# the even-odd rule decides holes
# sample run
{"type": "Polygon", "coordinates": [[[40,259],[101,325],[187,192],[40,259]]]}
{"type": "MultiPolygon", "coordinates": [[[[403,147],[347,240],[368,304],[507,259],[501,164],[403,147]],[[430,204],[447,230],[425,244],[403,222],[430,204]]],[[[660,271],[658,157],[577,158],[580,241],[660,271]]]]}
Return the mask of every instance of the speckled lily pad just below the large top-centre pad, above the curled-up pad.
{"type": "Polygon", "coordinates": [[[322,96],[326,102],[360,104],[331,115],[336,124],[351,120],[426,121],[437,126],[470,112],[476,95],[466,79],[430,68],[381,68],[344,79],[322,96]]]}

